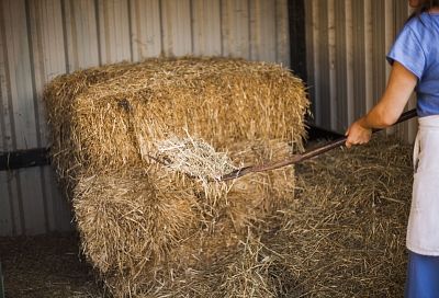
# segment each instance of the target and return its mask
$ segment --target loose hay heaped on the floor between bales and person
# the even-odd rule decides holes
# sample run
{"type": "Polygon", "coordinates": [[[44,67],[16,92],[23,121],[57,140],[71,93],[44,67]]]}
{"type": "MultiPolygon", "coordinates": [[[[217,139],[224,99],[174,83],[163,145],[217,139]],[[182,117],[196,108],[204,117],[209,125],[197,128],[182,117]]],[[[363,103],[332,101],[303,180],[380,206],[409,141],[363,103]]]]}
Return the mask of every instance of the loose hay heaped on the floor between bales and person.
{"type": "Polygon", "coordinates": [[[404,296],[410,152],[378,138],[304,162],[295,198],[261,239],[249,232],[212,266],[145,297],[404,296]]]}

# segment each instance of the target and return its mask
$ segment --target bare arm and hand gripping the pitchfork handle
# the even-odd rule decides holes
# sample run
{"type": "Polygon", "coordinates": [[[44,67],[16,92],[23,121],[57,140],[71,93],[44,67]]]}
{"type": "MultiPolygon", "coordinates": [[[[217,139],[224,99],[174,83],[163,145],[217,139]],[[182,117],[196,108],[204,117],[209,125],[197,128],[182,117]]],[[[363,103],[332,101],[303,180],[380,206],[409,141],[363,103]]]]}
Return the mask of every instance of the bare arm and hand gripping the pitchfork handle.
{"type": "Polygon", "coordinates": [[[395,61],[381,100],[365,116],[351,124],[346,131],[348,137],[346,147],[365,144],[370,140],[373,128],[385,128],[396,123],[415,90],[416,83],[417,77],[395,61]]]}

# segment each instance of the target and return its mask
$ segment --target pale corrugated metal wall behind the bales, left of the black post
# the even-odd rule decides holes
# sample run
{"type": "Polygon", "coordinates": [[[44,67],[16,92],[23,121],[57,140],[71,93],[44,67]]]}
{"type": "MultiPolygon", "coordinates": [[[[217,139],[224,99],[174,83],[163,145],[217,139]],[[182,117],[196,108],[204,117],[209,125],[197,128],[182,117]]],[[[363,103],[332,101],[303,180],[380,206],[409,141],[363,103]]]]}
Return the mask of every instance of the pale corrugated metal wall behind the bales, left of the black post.
{"type": "MultiPolygon", "coordinates": [[[[0,0],[0,151],[48,146],[44,84],[80,68],[219,55],[290,64],[286,0],[0,0]]],[[[49,167],[0,171],[0,236],[71,228],[49,167]]]]}

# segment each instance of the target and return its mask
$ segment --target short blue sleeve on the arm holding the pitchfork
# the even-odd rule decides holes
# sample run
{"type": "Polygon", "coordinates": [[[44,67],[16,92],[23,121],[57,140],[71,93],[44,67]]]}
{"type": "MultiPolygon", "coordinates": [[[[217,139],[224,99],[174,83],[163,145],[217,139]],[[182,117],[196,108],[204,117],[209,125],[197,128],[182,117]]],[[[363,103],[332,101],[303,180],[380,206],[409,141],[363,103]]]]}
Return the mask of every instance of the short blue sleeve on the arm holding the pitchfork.
{"type": "Polygon", "coordinates": [[[421,79],[426,65],[426,57],[418,37],[409,26],[406,25],[396,37],[386,58],[391,65],[393,65],[394,61],[398,61],[419,80],[421,79]]]}

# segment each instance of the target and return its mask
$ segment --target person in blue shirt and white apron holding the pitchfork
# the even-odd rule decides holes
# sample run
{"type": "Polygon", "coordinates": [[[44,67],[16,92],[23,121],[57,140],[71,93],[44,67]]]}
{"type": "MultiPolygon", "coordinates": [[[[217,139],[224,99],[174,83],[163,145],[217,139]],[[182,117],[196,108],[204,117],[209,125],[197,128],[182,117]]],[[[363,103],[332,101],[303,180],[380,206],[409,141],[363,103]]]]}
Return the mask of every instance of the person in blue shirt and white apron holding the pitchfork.
{"type": "Polygon", "coordinates": [[[365,144],[373,128],[393,125],[413,91],[418,134],[407,225],[405,297],[439,297],[439,0],[410,0],[414,13],[392,46],[392,71],[380,101],[346,131],[346,146],[365,144]]]}

